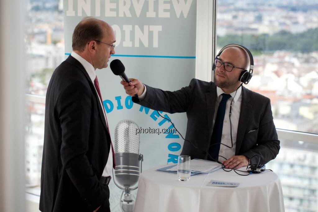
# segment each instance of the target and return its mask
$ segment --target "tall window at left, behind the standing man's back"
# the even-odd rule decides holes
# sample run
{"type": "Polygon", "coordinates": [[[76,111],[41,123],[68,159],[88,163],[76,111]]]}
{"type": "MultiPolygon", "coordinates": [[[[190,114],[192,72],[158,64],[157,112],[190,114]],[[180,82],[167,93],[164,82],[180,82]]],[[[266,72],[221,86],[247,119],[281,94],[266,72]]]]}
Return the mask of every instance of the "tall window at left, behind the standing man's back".
{"type": "Polygon", "coordinates": [[[45,95],[54,69],[65,59],[63,1],[29,1],[26,20],[27,88],[25,172],[27,192],[39,195],[45,95]]]}

